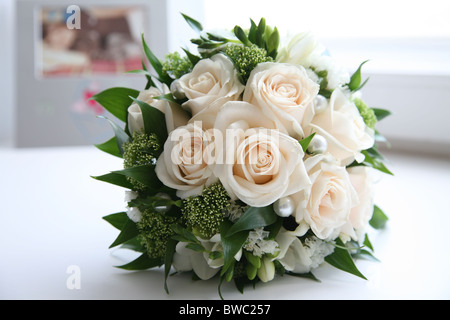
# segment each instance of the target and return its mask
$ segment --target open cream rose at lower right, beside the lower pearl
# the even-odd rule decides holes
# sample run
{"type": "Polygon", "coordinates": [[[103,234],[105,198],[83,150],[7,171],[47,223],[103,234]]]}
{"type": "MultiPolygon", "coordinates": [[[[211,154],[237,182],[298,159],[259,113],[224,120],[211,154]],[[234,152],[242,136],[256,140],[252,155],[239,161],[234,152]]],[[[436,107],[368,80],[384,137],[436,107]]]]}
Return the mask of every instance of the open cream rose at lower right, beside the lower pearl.
{"type": "Polygon", "coordinates": [[[293,195],[297,204],[294,213],[299,224],[297,233],[310,228],[319,239],[334,239],[358,203],[356,191],[345,167],[329,155],[308,158],[305,167],[312,185],[293,195]]]}

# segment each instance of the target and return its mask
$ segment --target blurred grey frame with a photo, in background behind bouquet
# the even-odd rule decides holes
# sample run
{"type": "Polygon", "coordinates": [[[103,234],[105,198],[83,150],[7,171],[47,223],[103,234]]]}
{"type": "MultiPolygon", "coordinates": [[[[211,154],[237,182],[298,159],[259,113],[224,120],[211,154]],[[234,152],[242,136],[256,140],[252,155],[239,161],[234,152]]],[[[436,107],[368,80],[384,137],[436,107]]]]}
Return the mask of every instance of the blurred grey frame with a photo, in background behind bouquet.
{"type": "Polygon", "coordinates": [[[167,52],[164,1],[18,0],[15,17],[15,145],[95,144],[111,135],[89,98],[108,87],[144,88],[141,35],[167,52]]]}

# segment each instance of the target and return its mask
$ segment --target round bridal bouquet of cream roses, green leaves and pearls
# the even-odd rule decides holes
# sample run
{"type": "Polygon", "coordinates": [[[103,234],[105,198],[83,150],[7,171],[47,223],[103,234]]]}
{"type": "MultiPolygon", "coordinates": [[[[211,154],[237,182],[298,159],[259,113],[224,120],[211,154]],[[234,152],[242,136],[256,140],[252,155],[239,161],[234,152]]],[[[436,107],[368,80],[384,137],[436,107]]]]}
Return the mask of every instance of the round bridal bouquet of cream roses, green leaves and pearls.
{"type": "Polygon", "coordinates": [[[142,90],[110,88],[92,99],[116,120],[97,147],[124,167],[94,178],[124,187],[111,248],[141,253],[119,266],[164,266],[195,279],[317,280],[324,261],[364,278],[354,259],[373,257],[373,171],[391,174],[376,130],[389,111],[363,100],[359,65],[347,73],[309,33],[281,40],[250,20],[246,30],[198,32],[196,52],[157,58],[144,36],[142,90]]]}

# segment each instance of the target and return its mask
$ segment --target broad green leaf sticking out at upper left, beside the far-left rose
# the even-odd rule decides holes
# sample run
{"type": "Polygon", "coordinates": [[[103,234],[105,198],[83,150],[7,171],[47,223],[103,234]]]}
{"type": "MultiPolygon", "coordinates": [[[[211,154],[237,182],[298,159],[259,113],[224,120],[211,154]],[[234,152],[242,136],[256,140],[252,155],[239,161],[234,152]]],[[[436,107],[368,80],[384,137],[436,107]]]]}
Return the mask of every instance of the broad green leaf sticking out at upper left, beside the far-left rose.
{"type": "Polygon", "coordinates": [[[96,95],[91,99],[97,101],[106,110],[108,110],[117,119],[126,122],[128,117],[128,107],[133,102],[130,97],[136,98],[139,91],[129,88],[109,88],[96,95]]]}

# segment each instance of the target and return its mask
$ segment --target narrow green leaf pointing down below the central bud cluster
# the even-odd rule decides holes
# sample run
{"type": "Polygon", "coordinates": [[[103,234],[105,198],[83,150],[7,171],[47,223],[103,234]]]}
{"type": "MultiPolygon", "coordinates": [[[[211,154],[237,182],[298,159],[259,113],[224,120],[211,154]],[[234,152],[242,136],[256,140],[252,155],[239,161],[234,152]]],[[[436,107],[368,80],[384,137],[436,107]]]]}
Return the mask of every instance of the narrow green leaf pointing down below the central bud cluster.
{"type": "Polygon", "coordinates": [[[224,265],[222,267],[221,275],[224,275],[227,270],[234,265],[234,256],[244,245],[248,238],[248,231],[241,231],[229,236],[227,233],[233,223],[225,219],[220,225],[220,237],[222,240],[224,265]]]}

